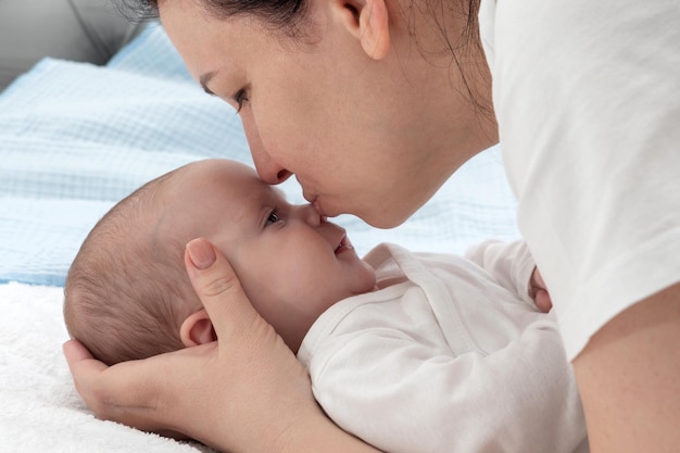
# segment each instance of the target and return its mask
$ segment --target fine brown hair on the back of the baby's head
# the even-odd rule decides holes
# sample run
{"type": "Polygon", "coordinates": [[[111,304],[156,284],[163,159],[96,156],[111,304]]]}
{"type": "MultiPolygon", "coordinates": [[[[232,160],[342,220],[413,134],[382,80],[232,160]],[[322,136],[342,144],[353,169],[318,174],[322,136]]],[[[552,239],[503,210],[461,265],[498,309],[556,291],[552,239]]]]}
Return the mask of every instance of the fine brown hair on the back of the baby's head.
{"type": "Polygon", "coordinates": [[[185,270],[185,242],[154,236],[163,190],[178,171],[114,205],[89,232],[68,270],[68,334],[108,365],[184,348],[179,327],[202,307],[185,270]]]}

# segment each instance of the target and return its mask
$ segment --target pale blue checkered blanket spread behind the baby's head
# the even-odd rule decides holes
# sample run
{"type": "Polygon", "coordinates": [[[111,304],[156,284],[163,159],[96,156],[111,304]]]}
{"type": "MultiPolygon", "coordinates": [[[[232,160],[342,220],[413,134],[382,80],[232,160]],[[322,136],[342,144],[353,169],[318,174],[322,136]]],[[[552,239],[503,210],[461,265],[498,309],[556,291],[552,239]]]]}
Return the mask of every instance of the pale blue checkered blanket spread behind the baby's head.
{"type": "MultiPolygon", "coordinates": [[[[113,203],[214,156],[252,164],[238,115],[191,80],[161,26],[106,66],[42,60],[0,93],[0,282],[63,285],[80,242],[113,203]]],[[[284,190],[303,201],[294,181],[284,190]]],[[[461,252],[481,239],[516,238],[514,210],[491,149],[400,228],[338,222],[360,252],[381,241],[461,252]]]]}

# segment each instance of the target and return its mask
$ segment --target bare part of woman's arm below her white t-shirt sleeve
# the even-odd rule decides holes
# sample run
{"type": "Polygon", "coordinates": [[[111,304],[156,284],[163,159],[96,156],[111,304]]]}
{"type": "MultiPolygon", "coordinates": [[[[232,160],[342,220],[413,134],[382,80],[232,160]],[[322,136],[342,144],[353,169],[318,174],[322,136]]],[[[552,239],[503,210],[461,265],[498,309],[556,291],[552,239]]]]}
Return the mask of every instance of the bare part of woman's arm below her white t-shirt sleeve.
{"type": "Polygon", "coordinates": [[[680,285],[624,311],[574,361],[592,453],[677,452],[680,285]]]}

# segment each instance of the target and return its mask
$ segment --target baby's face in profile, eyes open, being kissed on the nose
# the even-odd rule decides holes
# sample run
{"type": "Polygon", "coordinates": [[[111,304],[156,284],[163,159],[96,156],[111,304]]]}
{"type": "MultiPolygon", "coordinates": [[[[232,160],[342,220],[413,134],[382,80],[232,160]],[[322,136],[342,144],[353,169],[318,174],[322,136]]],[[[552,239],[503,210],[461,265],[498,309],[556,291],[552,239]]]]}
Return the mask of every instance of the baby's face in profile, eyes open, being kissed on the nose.
{"type": "Polygon", "coordinates": [[[203,161],[173,183],[159,228],[205,237],[229,260],[245,293],[286,343],[298,351],[333,303],[374,289],[374,269],[343,228],[308,204],[289,204],[247,165],[203,161]]]}

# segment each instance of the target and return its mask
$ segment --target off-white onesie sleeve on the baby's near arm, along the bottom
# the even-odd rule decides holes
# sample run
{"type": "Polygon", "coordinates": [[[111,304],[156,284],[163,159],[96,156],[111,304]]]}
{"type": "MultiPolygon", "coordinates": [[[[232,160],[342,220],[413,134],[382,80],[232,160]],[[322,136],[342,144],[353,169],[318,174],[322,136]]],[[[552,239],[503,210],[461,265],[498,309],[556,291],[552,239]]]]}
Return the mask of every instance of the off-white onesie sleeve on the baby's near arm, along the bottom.
{"type": "Polygon", "coordinates": [[[313,391],[347,431],[392,453],[571,453],[585,439],[572,372],[547,315],[492,354],[453,356],[391,328],[319,343],[313,391]]]}

